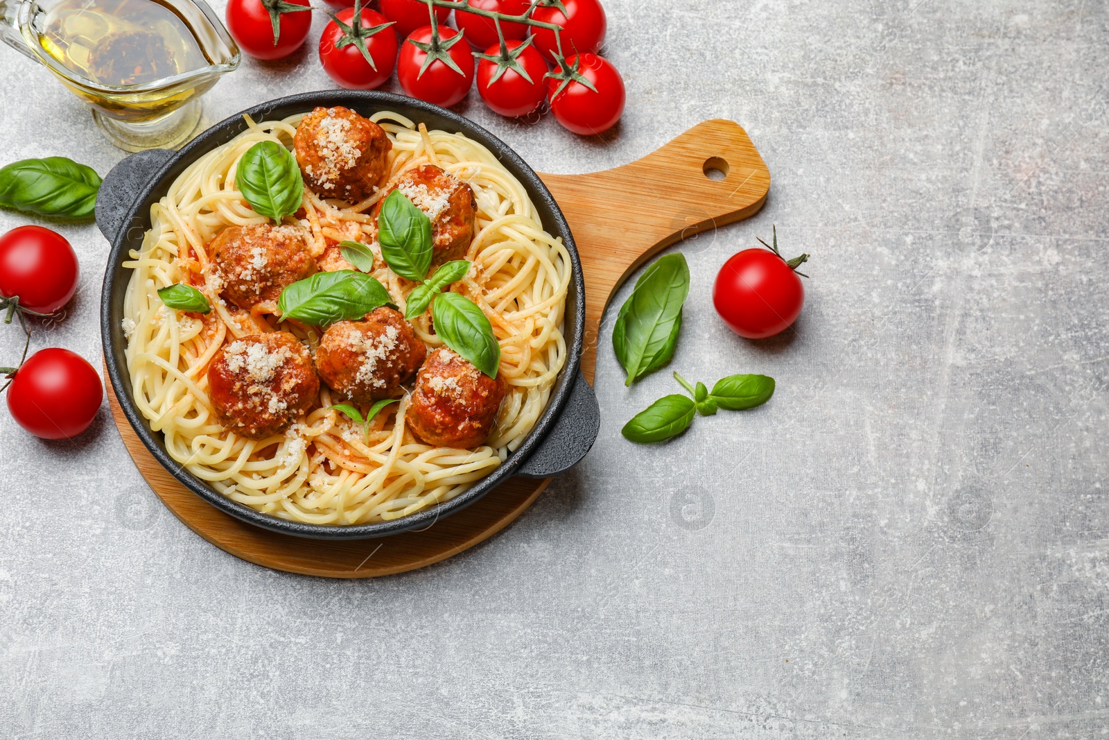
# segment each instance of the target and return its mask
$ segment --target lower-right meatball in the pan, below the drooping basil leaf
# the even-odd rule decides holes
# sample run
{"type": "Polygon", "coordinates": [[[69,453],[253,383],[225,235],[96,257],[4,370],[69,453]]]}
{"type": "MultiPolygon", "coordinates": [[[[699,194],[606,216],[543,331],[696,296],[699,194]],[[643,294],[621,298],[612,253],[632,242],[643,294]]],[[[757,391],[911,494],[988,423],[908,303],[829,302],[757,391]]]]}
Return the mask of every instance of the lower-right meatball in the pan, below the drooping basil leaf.
{"type": "Polygon", "coordinates": [[[492,433],[506,393],[508,385],[499,375],[491,378],[439,347],[428,355],[416,377],[408,427],[436,447],[477,447],[492,433]]]}

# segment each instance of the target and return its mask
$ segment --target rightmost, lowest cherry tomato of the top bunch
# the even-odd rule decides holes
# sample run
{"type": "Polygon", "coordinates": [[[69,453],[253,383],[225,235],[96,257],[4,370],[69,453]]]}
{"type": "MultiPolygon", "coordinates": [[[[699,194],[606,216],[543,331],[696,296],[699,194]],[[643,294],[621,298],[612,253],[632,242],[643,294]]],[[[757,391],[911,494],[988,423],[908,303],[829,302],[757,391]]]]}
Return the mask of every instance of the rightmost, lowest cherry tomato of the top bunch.
{"type": "MultiPolygon", "coordinates": [[[[623,115],[625,92],[620,72],[612,62],[597,54],[574,54],[567,60],[567,64],[576,78],[589,80],[597,92],[578,79],[571,79],[563,89],[566,80],[547,78],[554,118],[570,131],[583,136],[608,131],[623,115]]],[[[554,68],[554,73],[562,73],[561,64],[554,68]]]]}

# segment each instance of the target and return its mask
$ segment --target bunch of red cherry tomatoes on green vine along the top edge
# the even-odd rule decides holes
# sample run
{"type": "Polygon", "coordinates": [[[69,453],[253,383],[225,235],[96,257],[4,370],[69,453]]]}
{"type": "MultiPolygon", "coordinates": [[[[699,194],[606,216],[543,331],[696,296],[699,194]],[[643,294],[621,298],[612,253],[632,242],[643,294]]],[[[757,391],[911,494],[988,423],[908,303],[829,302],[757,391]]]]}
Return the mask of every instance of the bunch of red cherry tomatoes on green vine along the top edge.
{"type": "MultiPolygon", "coordinates": [[[[326,2],[342,10],[328,12],[319,61],[344,88],[373,90],[396,70],[406,94],[449,107],[476,78],[481,100],[497,113],[529,115],[547,102],[559,123],[582,135],[607,131],[623,113],[623,79],[597,53],[607,28],[599,0],[459,0],[455,28],[447,26],[451,8],[426,0],[377,0],[376,9],[362,0],[326,2]]],[[[309,0],[230,0],[227,30],[252,57],[281,59],[307,39],[308,10],[309,0]]]]}

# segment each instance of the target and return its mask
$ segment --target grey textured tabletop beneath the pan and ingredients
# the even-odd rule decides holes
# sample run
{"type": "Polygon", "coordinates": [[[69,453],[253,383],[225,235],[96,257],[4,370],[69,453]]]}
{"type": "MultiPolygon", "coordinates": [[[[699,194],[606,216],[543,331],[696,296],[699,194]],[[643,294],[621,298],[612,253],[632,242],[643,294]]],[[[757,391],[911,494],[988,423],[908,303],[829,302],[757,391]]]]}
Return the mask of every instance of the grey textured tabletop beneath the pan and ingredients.
{"type": "MultiPolygon", "coordinates": [[[[507,122],[472,93],[460,110],[548,172],[744,125],[770,200],[679,247],[693,290],[673,366],[767,373],[773,401],[631,445],[624,420],[676,386],[625,389],[606,339],[580,467],[485,545],[360,582],[202,541],[106,406],[69,443],[0,412],[0,736],[1109,732],[1107,3],[604,4],[619,130],[507,122]],[[709,296],[774,222],[813,255],[807,305],[752,344],[709,296]]],[[[44,70],[11,51],[0,69],[4,162],[122,156],[44,70]]],[[[314,48],[246,61],[205,120],[326,87],[314,48]]],[[[96,361],[108,245],[60,229],[81,286],[35,346],[96,361]]],[[[0,332],[0,357],[20,348],[0,332]]]]}

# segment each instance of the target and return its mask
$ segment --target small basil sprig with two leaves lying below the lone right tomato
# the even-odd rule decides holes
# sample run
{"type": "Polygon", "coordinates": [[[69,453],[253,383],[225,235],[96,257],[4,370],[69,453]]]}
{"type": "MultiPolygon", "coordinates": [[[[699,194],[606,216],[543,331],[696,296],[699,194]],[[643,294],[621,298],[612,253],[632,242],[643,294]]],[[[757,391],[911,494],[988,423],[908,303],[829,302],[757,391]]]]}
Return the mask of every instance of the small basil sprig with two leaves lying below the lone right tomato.
{"type": "Polygon", "coordinates": [[[774,395],[774,378],[766,375],[730,375],[718,381],[712,393],[704,383],[693,386],[678,373],[674,379],[693,397],[663,396],[624,425],[620,430],[624,437],[641,444],[665,442],[688,429],[696,414],[712,416],[720,408],[754,408],[774,395]]]}

